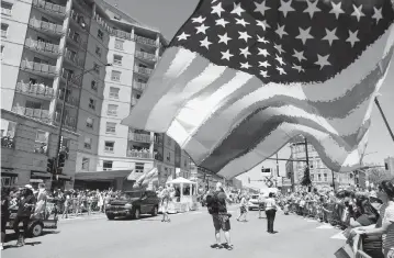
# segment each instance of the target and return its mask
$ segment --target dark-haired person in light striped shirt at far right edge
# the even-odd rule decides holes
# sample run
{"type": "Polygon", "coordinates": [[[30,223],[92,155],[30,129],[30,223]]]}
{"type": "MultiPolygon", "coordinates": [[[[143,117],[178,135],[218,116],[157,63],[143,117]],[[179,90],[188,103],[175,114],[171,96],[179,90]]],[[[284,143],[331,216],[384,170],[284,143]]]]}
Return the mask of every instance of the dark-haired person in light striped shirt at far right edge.
{"type": "Polygon", "coordinates": [[[390,180],[384,180],[379,186],[379,199],[387,204],[382,217],[382,226],[379,228],[360,228],[361,235],[383,235],[383,253],[385,258],[394,258],[394,186],[390,180]]]}

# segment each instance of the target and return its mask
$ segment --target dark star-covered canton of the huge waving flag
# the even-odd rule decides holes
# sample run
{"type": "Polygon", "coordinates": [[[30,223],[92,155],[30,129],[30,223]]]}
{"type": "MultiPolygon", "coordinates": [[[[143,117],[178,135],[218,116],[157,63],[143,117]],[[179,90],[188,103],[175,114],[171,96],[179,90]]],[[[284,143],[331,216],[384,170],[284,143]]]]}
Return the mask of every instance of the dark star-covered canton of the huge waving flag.
{"type": "MultiPolygon", "coordinates": [[[[328,78],[327,71],[334,72],[342,61],[336,56],[337,49],[360,52],[361,47],[354,47],[356,44],[363,44],[363,47],[371,44],[363,43],[365,30],[371,29],[361,27],[360,22],[369,19],[368,22],[376,27],[387,23],[381,3],[367,7],[342,4],[345,0],[251,2],[233,1],[229,5],[224,0],[211,1],[207,7],[204,5],[205,11],[196,12],[189,26],[176,35],[176,44],[190,43],[204,57],[216,56],[216,60],[221,61],[218,65],[241,69],[260,78],[300,78],[300,74],[307,78],[311,74],[304,65],[307,63],[324,70],[324,77],[328,78]],[[272,19],[278,18],[277,13],[280,13],[280,22],[272,19]],[[341,23],[342,19],[348,22],[341,23]]],[[[347,64],[350,63],[348,59],[347,64]]],[[[316,69],[313,70],[316,72],[316,69]]]]}

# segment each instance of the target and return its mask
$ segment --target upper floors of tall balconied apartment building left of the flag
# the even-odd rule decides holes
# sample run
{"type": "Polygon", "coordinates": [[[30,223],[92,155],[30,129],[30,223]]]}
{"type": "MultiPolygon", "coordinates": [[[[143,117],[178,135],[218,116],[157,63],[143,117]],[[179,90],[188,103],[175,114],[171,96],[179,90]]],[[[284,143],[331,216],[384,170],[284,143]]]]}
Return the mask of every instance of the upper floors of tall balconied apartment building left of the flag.
{"type": "Polygon", "coordinates": [[[166,47],[157,30],[101,0],[1,0],[1,108],[58,126],[65,99],[76,173],[188,173],[171,138],[120,124],[166,47]]]}

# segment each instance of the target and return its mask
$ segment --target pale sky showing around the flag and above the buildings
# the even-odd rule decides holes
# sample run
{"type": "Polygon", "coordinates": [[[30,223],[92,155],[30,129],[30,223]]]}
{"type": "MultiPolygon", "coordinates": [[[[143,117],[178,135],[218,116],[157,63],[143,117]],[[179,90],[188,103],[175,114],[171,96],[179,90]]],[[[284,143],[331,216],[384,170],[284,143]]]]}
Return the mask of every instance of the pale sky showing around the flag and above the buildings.
{"type": "MultiPolygon", "coordinates": [[[[158,29],[167,40],[171,40],[178,29],[192,14],[199,0],[106,0],[112,4],[130,14],[138,22],[158,29]]],[[[381,106],[385,116],[394,131],[394,57],[389,75],[382,86],[379,97],[381,106]]],[[[384,158],[394,156],[394,142],[391,138],[384,121],[374,106],[372,115],[372,124],[369,137],[369,144],[365,150],[364,162],[383,164],[384,158]]],[[[289,158],[289,147],[283,147],[279,152],[280,158],[289,158]]],[[[285,161],[279,164],[280,176],[285,175],[285,161]]],[[[251,169],[250,171],[238,176],[244,184],[261,188],[261,182],[252,182],[248,184],[248,178],[251,180],[262,179],[261,166],[266,168],[275,168],[274,161],[264,161],[251,169]]]]}

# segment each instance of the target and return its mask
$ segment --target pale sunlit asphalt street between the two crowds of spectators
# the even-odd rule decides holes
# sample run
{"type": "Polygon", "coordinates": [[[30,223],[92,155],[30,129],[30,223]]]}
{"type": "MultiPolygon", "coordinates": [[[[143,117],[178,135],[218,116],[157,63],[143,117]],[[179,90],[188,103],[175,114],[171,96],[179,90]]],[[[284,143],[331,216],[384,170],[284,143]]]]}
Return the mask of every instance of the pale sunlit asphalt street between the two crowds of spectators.
{"type": "MultiPolygon", "coordinates": [[[[233,213],[233,250],[213,249],[214,228],[206,209],[171,215],[171,223],[161,216],[139,221],[108,221],[103,215],[59,222],[58,231],[26,240],[14,247],[11,239],[1,251],[3,258],[334,258],[345,245],[340,231],[296,215],[277,215],[277,234],[267,233],[267,220],[249,212],[248,222],[237,222],[233,213]]],[[[12,237],[12,236],[11,236],[12,237]]],[[[14,238],[14,237],[13,237],[14,238]]],[[[224,242],[224,238],[223,238],[224,242]]]]}

